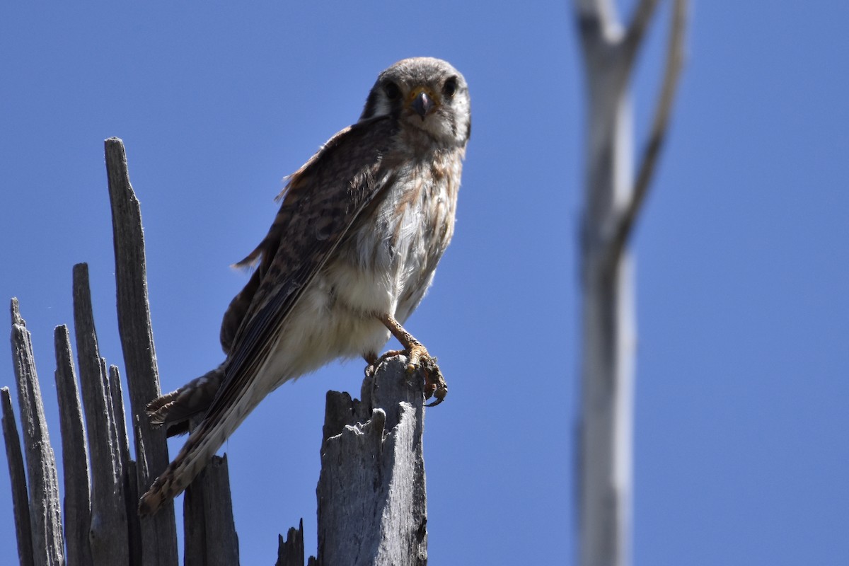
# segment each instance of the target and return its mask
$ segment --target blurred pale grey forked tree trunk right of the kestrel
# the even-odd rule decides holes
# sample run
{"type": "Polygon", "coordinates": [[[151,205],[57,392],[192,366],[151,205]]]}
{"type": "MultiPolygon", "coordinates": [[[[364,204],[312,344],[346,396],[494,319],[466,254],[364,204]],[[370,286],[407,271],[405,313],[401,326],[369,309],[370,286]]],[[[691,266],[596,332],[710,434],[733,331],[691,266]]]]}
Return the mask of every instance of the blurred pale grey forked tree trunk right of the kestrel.
{"type": "Polygon", "coordinates": [[[574,0],[588,84],[586,205],[581,233],[580,563],[630,563],[636,331],[627,241],[666,133],[683,59],[687,0],[674,0],[666,70],[638,174],[633,174],[634,60],[659,0],[640,0],[627,29],[611,0],[574,0]]]}

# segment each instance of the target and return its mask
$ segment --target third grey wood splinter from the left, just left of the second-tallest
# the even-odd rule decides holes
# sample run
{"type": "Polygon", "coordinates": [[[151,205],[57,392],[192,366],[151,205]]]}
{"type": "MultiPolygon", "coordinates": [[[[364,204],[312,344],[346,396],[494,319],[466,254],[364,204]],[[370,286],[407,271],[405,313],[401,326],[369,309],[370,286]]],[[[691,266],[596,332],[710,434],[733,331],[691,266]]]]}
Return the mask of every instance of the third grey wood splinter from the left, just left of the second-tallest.
{"type": "Polygon", "coordinates": [[[53,329],[56,350],[56,392],[59,401],[59,433],[62,437],[62,469],[65,487],[65,545],[69,564],[88,566],[92,553],[88,543],[91,492],[88,486],[88,442],[82,423],[80,392],[76,386],[68,327],[53,329]]]}

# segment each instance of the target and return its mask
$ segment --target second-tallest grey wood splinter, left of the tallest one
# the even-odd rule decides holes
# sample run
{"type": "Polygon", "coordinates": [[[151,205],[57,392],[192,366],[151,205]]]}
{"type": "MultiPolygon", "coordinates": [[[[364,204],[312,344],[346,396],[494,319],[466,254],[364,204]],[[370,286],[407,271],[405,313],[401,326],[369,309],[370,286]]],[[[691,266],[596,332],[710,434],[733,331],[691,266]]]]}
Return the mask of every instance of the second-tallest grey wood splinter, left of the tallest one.
{"type": "Polygon", "coordinates": [[[76,264],[73,279],[76,356],[92,466],[92,560],[94,564],[127,563],[130,547],[121,453],[109,377],[98,351],[88,266],[76,264]]]}

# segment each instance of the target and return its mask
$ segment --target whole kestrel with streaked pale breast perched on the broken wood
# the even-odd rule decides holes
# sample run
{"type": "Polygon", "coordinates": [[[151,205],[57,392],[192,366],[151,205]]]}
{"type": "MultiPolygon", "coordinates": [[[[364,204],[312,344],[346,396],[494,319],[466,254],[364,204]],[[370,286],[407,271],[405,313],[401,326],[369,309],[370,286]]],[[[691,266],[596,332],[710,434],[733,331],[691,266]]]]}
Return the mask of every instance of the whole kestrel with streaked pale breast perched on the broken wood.
{"type": "Polygon", "coordinates": [[[390,334],[437,402],[436,362],[402,323],[430,287],[454,232],[471,132],[469,89],[441,59],[403,59],[380,73],[363,115],[290,176],[256,266],[224,315],[227,359],[148,406],[185,446],[139,503],[156,513],[181,493],[224,440],[278,386],[336,358],[369,364],[390,334]]]}

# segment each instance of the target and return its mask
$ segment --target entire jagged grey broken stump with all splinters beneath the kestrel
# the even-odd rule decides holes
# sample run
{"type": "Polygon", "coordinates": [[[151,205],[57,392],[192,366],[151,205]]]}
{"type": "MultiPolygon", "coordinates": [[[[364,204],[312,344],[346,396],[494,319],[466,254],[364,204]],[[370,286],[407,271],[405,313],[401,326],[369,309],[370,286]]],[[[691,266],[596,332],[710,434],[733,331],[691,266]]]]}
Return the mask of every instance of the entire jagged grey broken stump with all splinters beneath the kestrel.
{"type": "MultiPolygon", "coordinates": [[[[77,389],[68,329],[55,329],[56,386],[65,458],[65,510],[70,563],[177,564],[173,507],[140,520],[138,492],[168,462],[164,431],[149,426],[144,407],[159,394],[145,281],[138,200],[120,140],[106,141],[115,236],[119,328],[127,365],[137,460],[129,457],[121,378],[99,356],[85,264],[74,266],[74,321],[81,378],[77,389]],[[82,391],[82,408],[80,392],[82,391]],[[85,425],[82,412],[85,412],[85,425]],[[91,474],[89,482],[88,475],[91,474]]],[[[49,445],[32,346],[17,300],[12,343],[29,476],[2,390],[3,434],[12,480],[20,563],[61,564],[65,554],[59,488],[49,445]],[[27,484],[30,492],[27,495],[27,484]]],[[[380,364],[363,383],[363,401],[329,392],[318,485],[321,563],[424,564],[423,384],[406,373],[406,358],[380,364]]],[[[187,564],[236,564],[227,460],[215,457],[185,497],[187,564]]],[[[278,563],[303,563],[303,524],[280,541],[278,563]]],[[[318,563],[310,557],[308,564],[318,563]]]]}

